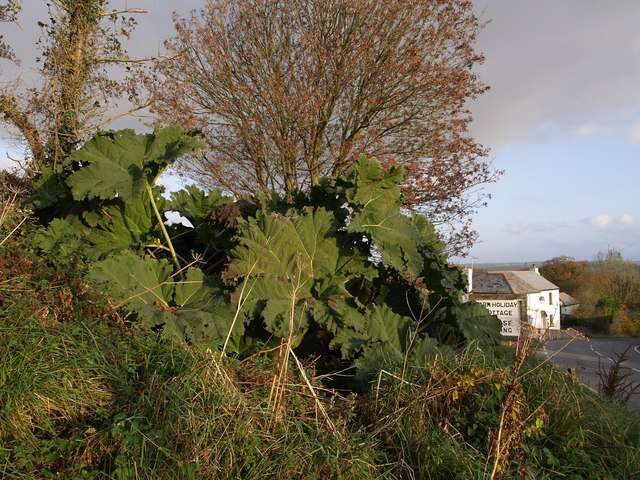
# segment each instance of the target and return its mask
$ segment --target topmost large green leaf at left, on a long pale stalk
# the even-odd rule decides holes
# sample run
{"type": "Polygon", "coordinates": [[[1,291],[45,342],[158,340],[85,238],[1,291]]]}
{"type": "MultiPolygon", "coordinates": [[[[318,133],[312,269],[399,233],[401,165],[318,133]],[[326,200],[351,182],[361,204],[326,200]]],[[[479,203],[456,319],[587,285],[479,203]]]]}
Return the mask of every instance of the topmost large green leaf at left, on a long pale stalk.
{"type": "Polygon", "coordinates": [[[99,133],[76,151],[70,161],[80,165],[67,178],[73,198],[129,200],[145,184],[181,155],[202,147],[198,138],[180,127],[157,129],[138,135],[133,130],[99,133]]]}

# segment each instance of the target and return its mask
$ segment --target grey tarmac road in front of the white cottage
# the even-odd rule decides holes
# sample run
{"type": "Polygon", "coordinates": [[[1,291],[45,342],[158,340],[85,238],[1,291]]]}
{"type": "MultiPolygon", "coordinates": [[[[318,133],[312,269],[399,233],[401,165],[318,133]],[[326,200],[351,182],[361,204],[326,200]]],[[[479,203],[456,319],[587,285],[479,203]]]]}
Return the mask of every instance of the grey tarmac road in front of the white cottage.
{"type": "MultiPolygon", "coordinates": [[[[623,366],[631,374],[629,380],[640,384],[640,338],[563,338],[549,340],[542,353],[551,357],[560,368],[575,369],[578,378],[597,390],[600,383],[598,370],[600,365],[606,368],[616,355],[626,349],[628,360],[623,366]]],[[[629,406],[640,409],[640,391],[630,399],[629,406]]]]}

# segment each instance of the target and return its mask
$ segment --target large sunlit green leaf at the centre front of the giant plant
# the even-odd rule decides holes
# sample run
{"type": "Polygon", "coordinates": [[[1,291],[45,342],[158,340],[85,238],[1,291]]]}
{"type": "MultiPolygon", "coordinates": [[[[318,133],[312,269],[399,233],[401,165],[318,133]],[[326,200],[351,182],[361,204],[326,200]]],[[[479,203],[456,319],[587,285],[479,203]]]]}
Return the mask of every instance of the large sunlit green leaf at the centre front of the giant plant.
{"type": "Polygon", "coordinates": [[[249,219],[240,224],[238,241],[227,274],[246,279],[253,301],[264,304],[265,327],[278,337],[291,333],[297,344],[309,314],[316,312],[327,323],[329,301],[337,304],[349,296],[345,283],[356,262],[343,256],[335,218],[322,208],[249,219]]]}

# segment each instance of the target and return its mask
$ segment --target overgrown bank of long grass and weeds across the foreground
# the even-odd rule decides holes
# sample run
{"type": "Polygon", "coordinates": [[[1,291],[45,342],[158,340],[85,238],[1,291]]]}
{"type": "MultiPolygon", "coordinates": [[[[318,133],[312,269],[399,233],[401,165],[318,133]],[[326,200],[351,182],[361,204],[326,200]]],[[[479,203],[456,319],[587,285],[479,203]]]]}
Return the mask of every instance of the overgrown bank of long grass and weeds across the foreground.
{"type": "Polygon", "coordinates": [[[636,414],[506,347],[442,349],[357,392],[302,358],[274,413],[273,352],[221,359],[126,324],[23,233],[0,246],[0,478],[640,475],[636,414]]]}

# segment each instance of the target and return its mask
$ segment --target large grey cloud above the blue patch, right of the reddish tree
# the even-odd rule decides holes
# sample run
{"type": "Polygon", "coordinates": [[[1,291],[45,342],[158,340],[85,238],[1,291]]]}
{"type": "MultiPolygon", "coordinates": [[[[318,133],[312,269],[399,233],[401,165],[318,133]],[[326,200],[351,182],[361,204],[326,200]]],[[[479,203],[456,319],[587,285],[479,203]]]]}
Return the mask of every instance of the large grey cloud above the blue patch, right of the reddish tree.
{"type": "Polygon", "coordinates": [[[584,0],[473,3],[489,20],[479,36],[486,62],[478,72],[491,90],[470,105],[481,142],[497,149],[537,141],[545,121],[559,138],[580,135],[577,130],[602,133],[604,125],[628,134],[640,101],[640,2],[617,0],[615,8],[584,0]]]}

